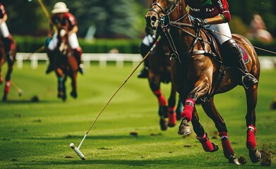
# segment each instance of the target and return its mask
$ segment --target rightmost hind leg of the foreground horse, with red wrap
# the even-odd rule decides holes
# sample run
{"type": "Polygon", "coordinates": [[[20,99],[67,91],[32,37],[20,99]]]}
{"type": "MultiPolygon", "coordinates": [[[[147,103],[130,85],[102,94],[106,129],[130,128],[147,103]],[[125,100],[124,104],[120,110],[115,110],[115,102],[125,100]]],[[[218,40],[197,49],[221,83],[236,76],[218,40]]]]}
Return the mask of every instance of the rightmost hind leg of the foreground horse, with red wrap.
{"type": "Polygon", "coordinates": [[[256,104],[257,104],[257,87],[255,89],[246,89],[246,102],[247,102],[247,113],[246,113],[246,147],[249,150],[249,157],[253,163],[258,163],[261,158],[260,152],[256,149],[256,104]]]}

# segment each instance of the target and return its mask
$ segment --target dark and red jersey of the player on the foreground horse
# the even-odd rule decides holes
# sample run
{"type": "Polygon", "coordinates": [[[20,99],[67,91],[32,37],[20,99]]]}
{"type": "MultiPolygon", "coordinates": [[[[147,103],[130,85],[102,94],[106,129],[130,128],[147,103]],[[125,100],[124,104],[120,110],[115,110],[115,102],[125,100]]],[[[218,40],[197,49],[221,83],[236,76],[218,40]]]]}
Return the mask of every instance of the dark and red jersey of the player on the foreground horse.
{"type": "Polygon", "coordinates": [[[186,5],[189,6],[189,14],[193,17],[205,19],[222,15],[224,23],[228,23],[231,20],[227,0],[205,0],[202,3],[186,0],[186,5]]]}

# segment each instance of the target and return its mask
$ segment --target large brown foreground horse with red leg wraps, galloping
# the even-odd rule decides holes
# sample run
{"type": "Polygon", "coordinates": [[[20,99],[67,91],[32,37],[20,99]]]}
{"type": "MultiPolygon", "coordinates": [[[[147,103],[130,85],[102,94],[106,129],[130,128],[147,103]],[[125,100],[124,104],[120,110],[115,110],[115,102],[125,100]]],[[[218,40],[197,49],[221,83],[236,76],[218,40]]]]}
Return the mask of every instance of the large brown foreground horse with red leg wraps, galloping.
{"type": "MultiPolygon", "coordinates": [[[[198,3],[200,1],[198,0],[198,3]]],[[[234,151],[228,139],[227,127],[214,104],[214,95],[228,92],[241,85],[241,77],[236,67],[225,68],[220,51],[215,50],[216,44],[210,39],[208,32],[194,27],[186,12],[184,0],[156,0],[145,15],[148,27],[162,30],[162,37],[167,37],[172,56],[172,83],[179,92],[184,104],[182,114],[191,115],[193,130],[205,151],[217,151],[217,144],[211,143],[203,126],[199,122],[195,101],[201,101],[205,113],[214,121],[219,132],[225,158],[230,163],[240,165],[234,157],[234,151]],[[214,44],[214,45],[212,45],[214,44]]],[[[260,75],[260,64],[252,44],[241,35],[233,35],[236,42],[248,56],[246,67],[257,79],[260,75]]],[[[227,65],[228,66],[228,65],[227,65]]],[[[258,84],[245,89],[247,101],[246,146],[253,163],[260,160],[260,152],[256,149],[256,104],[258,84]]],[[[185,134],[187,120],[182,120],[179,134],[185,134]]]]}

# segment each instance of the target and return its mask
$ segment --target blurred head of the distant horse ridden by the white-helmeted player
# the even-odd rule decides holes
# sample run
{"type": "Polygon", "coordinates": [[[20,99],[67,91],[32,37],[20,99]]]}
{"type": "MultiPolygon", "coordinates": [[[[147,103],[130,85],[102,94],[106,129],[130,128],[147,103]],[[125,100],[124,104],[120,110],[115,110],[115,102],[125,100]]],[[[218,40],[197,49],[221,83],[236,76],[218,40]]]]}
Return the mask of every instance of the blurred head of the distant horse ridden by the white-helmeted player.
{"type": "Polygon", "coordinates": [[[60,27],[57,30],[57,39],[59,40],[59,51],[65,55],[68,49],[68,29],[66,27],[60,27]]]}

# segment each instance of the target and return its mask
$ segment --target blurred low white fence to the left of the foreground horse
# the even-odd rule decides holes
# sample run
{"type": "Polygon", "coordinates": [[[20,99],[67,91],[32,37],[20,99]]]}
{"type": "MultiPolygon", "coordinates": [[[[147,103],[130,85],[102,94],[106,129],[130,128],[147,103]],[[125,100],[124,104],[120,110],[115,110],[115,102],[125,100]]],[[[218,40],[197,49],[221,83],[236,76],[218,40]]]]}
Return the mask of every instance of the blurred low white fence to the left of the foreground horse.
{"type": "MultiPolygon", "coordinates": [[[[118,68],[124,67],[124,62],[132,62],[133,66],[137,65],[142,59],[140,54],[83,54],[82,61],[85,68],[90,67],[90,62],[97,61],[101,68],[107,67],[107,62],[116,62],[118,68]]],[[[23,68],[23,62],[30,60],[32,68],[37,68],[38,61],[48,62],[47,54],[30,54],[30,53],[18,53],[16,54],[16,60],[18,68],[23,68]]]]}

